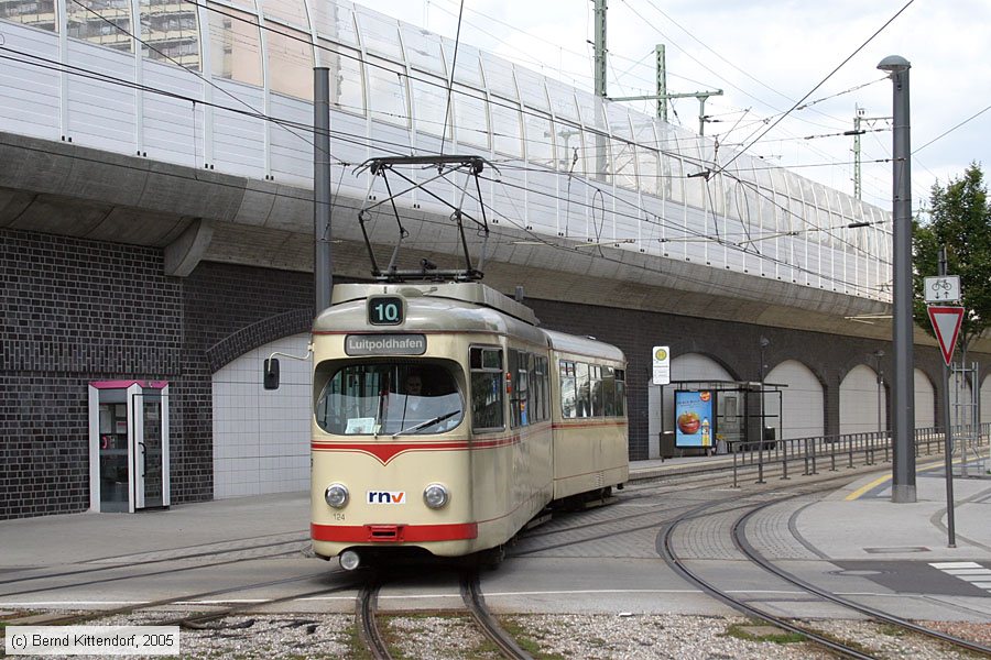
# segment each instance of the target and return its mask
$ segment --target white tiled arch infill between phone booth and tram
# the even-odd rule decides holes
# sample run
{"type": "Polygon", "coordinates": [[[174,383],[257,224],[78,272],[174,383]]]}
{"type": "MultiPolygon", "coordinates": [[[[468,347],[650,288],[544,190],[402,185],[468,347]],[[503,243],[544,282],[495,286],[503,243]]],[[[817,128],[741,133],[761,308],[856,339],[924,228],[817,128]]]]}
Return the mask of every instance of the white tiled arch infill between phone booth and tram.
{"type": "Polygon", "coordinates": [[[214,497],[309,488],[312,361],[279,358],[280,387],[262,387],[273,352],[304,355],[296,334],[241,355],[214,374],[214,497]]]}

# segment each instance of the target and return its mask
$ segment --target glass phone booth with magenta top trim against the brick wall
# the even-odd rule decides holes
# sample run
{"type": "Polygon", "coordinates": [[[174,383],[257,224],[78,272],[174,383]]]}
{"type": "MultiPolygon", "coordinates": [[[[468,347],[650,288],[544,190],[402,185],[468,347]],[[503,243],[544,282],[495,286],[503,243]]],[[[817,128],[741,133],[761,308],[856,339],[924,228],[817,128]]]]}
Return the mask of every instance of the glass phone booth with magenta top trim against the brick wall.
{"type": "Polygon", "coordinates": [[[167,507],[168,384],[89,384],[90,510],[167,507]]]}

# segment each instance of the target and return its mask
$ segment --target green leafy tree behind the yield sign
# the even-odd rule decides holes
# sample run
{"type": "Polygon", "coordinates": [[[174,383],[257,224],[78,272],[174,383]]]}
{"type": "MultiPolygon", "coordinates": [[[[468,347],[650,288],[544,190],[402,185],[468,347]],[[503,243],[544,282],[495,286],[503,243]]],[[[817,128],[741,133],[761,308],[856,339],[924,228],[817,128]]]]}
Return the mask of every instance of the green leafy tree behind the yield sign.
{"type": "Polygon", "coordinates": [[[913,287],[915,322],[934,334],[926,314],[923,278],[938,275],[939,249],[946,248],[947,275],[960,276],[960,304],[966,312],[960,343],[991,327],[991,206],[984,175],[977,163],[943,188],[933,186],[930,217],[913,227],[913,287]]]}

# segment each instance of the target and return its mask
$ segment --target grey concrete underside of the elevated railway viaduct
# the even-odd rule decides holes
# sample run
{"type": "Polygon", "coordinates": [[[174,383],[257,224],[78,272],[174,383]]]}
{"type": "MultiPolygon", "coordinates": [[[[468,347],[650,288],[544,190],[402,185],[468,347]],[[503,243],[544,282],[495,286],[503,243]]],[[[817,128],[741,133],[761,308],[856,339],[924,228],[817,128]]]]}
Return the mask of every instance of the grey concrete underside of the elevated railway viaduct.
{"type": "MultiPolygon", "coordinates": [[[[0,169],[2,228],[157,248],[165,252],[168,275],[187,275],[200,261],[313,270],[309,189],[12,134],[0,134],[0,160],[17,164],[0,169]]],[[[359,202],[334,199],[334,272],[368,278],[359,202]]],[[[448,217],[407,210],[404,226],[409,242],[453,248],[404,249],[404,267],[423,257],[457,263],[457,234],[448,217]]],[[[883,302],[609,245],[578,249],[552,239],[533,244],[532,235],[504,223],[493,229],[484,280],[503,292],[525,285],[529,298],[890,338],[885,321],[847,318],[883,315],[890,310],[883,302]]],[[[389,262],[395,237],[388,217],[373,224],[380,263],[389,262]]],[[[935,345],[921,331],[916,341],[935,345]]]]}

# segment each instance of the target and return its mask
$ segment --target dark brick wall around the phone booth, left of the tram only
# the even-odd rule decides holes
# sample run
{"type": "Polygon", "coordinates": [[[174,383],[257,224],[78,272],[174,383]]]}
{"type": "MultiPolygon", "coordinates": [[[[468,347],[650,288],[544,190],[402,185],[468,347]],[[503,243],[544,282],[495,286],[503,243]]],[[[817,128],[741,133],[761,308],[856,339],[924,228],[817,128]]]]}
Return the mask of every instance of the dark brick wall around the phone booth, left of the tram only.
{"type": "Polygon", "coordinates": [[[172,502],[213,497],[207,354],[246,328],[258,344],[305,330],[292,310],[312,308],[312,279],[214,263],[167,277],[161,250],[0,231],[0,519],[89,507],[90,381],[168,381],[172,502]]]}

